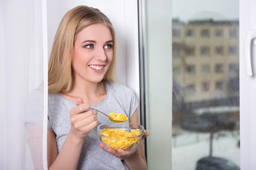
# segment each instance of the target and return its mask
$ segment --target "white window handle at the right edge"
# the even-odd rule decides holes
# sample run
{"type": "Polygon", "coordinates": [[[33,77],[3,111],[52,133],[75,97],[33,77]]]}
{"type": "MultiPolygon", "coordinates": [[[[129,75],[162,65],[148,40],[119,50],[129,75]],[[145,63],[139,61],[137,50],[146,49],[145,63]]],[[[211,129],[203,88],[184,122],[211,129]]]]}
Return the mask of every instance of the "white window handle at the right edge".
{"type": "MultiPolygon", "coordinates": [[[[252,63],[251,63],[251,42],[256,38],[256,29],[250,30],[245,37],[244,41],[244,61],[247,76],[252,76],[252,63]]],[[[256,45],[256,41],[253,42],[256,45]]]]}

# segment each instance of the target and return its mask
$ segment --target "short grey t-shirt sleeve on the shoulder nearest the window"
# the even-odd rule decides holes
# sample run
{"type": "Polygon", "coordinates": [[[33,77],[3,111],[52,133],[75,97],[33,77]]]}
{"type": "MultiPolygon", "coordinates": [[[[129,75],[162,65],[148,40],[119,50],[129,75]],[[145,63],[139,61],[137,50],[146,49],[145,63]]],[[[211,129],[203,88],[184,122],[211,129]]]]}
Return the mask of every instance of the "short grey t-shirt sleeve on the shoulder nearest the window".
{"type": "Polygon", "coordinates": [[[129,108],[129,119],[131,119],[132,115],[136,111],[139,105],[139,100],[137,99],[136,94],[130,88],[126,88],[125,90],[127,106],[129,108]]]}

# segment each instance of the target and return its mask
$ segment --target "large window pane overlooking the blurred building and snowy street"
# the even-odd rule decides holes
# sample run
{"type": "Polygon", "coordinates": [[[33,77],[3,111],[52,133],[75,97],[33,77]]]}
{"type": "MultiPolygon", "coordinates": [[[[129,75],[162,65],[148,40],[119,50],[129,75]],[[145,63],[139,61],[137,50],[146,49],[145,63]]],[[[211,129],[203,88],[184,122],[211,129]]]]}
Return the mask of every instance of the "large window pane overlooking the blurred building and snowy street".
{"type": "MultiPolygon", "coordinates": [[[[245,4],[241,2],[244,1],[240,1],[240,5],[245,4]]],[[[141,114],[141,122],[144,122],[148,129],[157,128],[149,131],[151,137],[145,141],[149,170],[168,169],[166,167],[172,170],[219,170],[225,169],[227,164],[226,169],[240,169],[239,165],[242,163],[242,167],[246,167],[246,156],[240,159],[240,153],[243,151],[240,152],[240,136],[241,140],[244,140],[241,133],[246,131],[240,133],[244,122],[240,124],[239,115],[243,117],[250,113],[245,112],[243,100],[243,112],[239,114],[239,96],[245,99],[244,96],[247,96],[250,89],[239,93],[239,74],[228,71],[231,63],[239,65],[239,48],[243,48],[239,47],[240,44],[243,45],[243,40],[239,40],[239,0],[234,0],[233,3],[225,0],[221,3],[187,0],[186,6],[184,1],[179,0],[174,3],[146,3],[148,4],[144,9],[148,15],[144,17],[147,20],[146,24],[140,24],[142,29],[139,34],[142,39],[139,43],[142,51],[140,54],[143,55],[140,57],[140,80],[144,81],[138,88],[142,89],[140,103],[141,112],[144,114],[141,114]],[[159,8],[156,8],[156,5],[159,8]],[[156,17],[161,18],[166,14],[169,14],[169,17],[156,20],[156,17]],[[146,26],[145,33],[143,25],[146,26]],[[236,38],[230,38],[231,28],[236,29],[236,38]],[[180,38],[170,40],[169,37],[175,34],[172,29],[180,29],[180,38]],[[208,29],[209,34],[207,30],[202,31],[203,29],[208,29]],[[180,43],[180,56],[172,59],[169,48],[176,43],[180,43]],[[236,56],[230,56],[230,46],[233,45],[236,45],[236,56]],[[194,50],[186,50],[186,47],[194,47],[194,50]],[[146,49],[145,53],[143,49],[146,49]],[[194,56],[187,57],[187,54],[194,56]],[[156,67],[156,62],[166,68],[163,70],[164,74],[156,67]],[[175,74],[179,72],[177,67],[180,67],[180,74],[175,74]],[[169,74],[170,72],[173,74],[169,74]],[[156,102],[164,107],[153,105],[156,102]],[[158,119],[159,117],[164,119],[158,119]],[[162,129],[170,129],[170,135],[157,133],[162,129]],[[164,149],[159,140],[171,142],[172,146],[164,149]],[[154,149],[158,147],[160,148],[154,149]],[[193,150],[200,152],[193,153],[193,150]],[[161,152],[165,156],[161,157],[161,152]],[[219,156],[221,158],[218,158],[219,156]],[[218,161],[217,164],[214,161],[218,161]],[[234,166],[229,166],[233,163],[234,166]],[[221,167],[222,165],[224,166],[221,167]]],[[[139,16],[143,16],[143,13],[139,16]]],[[[240,31],[244,36],[249,28],[242,23],[244,20],[240,21],[240,31]]],[[[246,74],[241,76],[242,79],[246,74]]],[[[243,88],[247,86],[240,84],[243,88]]],[[[246,150],[248,154],[249,148],[246,150]]]]}

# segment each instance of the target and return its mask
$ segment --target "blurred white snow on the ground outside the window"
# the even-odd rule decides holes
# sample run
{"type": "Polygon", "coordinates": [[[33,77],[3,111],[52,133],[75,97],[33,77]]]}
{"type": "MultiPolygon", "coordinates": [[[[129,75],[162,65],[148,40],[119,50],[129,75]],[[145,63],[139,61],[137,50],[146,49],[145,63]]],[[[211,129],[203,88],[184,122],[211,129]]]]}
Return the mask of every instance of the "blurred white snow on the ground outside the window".
{"type": "MultiPolygon", "coordinates": [[[[209,156],[209,133],[183,131],[172,137],[172,170],[195,170],[196,162],[209,156]]],[[[240,165],[239,131],[215,133],[212,156],[222,157],[240,165]]]]}

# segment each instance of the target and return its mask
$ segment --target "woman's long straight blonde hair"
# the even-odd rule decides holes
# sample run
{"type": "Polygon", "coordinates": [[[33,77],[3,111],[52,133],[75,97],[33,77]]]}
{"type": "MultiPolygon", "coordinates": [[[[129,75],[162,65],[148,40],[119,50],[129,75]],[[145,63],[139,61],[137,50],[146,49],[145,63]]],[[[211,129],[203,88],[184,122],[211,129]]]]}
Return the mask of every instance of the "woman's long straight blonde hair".
{"type": "Polygon", "coordinates": [[[116,64],[116,43],[114,28],[99,9],[77,6],[68,11],[61,20],[55,34],[48,65],[48,92],[67,93],[73,86],[73,45],[77,34],[91,24],[101,23],[108,26],[113,38],[113,60],[103,81],[113,82],[116,64]]]}

